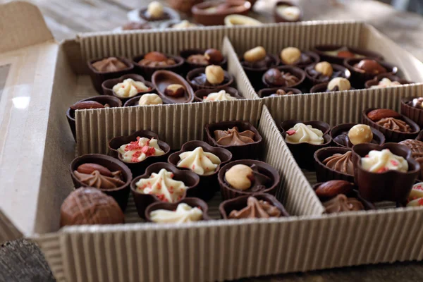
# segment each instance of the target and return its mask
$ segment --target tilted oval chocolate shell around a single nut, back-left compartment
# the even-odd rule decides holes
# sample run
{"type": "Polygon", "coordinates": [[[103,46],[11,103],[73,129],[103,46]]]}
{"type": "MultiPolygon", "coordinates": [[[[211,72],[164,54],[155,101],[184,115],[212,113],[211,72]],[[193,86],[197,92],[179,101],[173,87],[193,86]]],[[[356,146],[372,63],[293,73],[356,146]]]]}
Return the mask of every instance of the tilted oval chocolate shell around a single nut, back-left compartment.
{"type": "Polygon", "coordinates": [[[161,100],[165,104],[181,104],[181,103],[190,103],[194,101],[194,90],[192,90],[191,85],[183,79],[182,76],[173,73],[171,71],[157,71],[152,77],[152,82],[157,89],[161,100]],[[166,95],[166,87],[168,85],[178,84],[182,85],[185,89],[183,96],[181,97],[171,97],[166,95]]]}

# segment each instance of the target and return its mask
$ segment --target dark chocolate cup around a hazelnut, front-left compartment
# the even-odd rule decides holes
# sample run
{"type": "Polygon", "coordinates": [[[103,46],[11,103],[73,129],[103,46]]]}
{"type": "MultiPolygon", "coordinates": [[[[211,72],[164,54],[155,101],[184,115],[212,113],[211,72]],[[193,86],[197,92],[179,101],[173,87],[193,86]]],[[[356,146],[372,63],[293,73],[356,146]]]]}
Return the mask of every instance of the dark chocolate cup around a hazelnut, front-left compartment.
{"type": "Polygon", "coordinates": [[[218,173],[218,180],[223,200],[233,199],[235,197],[245,195],[251,196],[258,193],[257,191],[251,190],[238,190],[226,183],[226,171],[228,171],[229,168],[237,164],[245,164],[246,166],[252,166],[254,164],[255,166],[257,166],[259,173],[262,173],[271,179],[271,183],[269,185],[266,185],[266,189],[261,190],[259,193],[269,193],[271,195],[276,194],[276,188],[278,188],[278,185],[281,182],[281,177],[279,176],[279,173],[278,171],[276,171],[275,168],[273,168],[270,164],[266,164],[263,161],[257,161],[255,159],[240,159],[238,161],[231,161],[230,163],[225,164],[218,173]]]}

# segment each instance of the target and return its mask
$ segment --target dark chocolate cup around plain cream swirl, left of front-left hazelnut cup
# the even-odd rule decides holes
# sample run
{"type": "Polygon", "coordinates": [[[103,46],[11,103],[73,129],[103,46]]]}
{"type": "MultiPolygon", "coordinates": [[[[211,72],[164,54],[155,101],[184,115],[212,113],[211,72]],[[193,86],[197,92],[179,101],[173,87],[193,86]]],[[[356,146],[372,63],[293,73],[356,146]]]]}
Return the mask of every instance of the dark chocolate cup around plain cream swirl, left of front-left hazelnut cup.
{"type": "MultiPolygon", "coordinates": [[[[219,173],[221,167],[231,161],[232,154],[227,149],[213,147],[203,141],[188,141],[180,148],[180,151],[174,152],[168,157],[168,163],[178,166],[180,161],[179,155],[183,152],[193,151],[197,147],[202,147],[204,152],[215,154],[221,160],[221,163],[216,167],[214,173],[209,174],[208,176],[200,176],[200,185],[196,190],[193,190],[192,193],[195,193],[193,197],[199,197],[204,201],[212,199],[214,193],[219,189],[219,183],[217,180],[217,174],[219,173]]],[[[190,171],[189,168],[180,168],[186,171],[190,171]]],[[[191,196],[191,195],[190,195],[191,196]]]]}

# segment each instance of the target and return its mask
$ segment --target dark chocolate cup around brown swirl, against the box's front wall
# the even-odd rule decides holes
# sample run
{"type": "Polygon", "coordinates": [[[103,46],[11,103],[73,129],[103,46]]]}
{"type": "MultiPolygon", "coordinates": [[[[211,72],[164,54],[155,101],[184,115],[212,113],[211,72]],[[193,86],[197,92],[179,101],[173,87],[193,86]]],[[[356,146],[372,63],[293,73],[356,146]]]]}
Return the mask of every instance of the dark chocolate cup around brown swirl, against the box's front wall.
{"type": "Polygon", "coordinates": [[[222,216],[222,219],[228,219],[229,214],[231,214],[233,210],[240,211],[241,209],[247,207],[248,197],[255,197],[257,200],[269,202],[272,206],[277,207],[278,210],[281,211],[280,217],[289,216],[288,212],[286,212],[286,209],[274,195],[266,193],[253,193],[251,195],[243,195],[221,202],[221,204],[219,204],[219,212],[222,216]]]}

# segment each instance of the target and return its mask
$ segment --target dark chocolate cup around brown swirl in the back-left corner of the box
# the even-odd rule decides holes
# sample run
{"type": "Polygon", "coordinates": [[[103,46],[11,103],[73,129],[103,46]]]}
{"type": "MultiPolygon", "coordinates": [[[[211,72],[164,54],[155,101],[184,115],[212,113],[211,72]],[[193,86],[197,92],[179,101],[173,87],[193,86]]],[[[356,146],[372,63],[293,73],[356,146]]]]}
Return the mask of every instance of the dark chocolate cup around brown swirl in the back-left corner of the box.
{"type": "Polygon", "coordinates": [[[125,58],[122,57],[116,57],[119,61],[122,61],[125,63],[128,68],[124,68],[121,71],[107,71],[107,72],[101,72],[97,71],[95,68],[93,68],[92,64],[97,61],[102,61],[103,59],[107,59],[109,57],[104,57],[101,59],[94,59],[91,61],[88,61],[88,69],[90,73],[90,78],[92,81],[92,85],[94,86],[95,90],[99,92],[99,94],[103,94],[103,88],[102,83],[106,80],[112,79],[112,78],[120,78],[122,75],[125,75],[127,73],[131,73],[133,71],[134,65],[130,61],[128,61],[125,58]]]}

